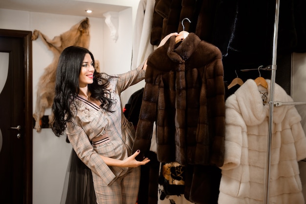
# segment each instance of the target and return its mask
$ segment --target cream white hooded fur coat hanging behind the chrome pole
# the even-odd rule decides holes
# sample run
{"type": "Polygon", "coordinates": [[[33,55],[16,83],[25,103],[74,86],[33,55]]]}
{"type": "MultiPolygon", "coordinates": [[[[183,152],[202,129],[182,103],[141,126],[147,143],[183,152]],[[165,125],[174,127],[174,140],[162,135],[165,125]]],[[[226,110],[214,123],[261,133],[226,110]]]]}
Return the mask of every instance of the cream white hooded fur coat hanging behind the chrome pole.
{"type": "MultiPolygon", "coordinates": [[[[271,81],[266,81],[270,92],[271,81]]],[[[275,83],[274,101],[292,99],[275,83]]],[[[225,158],[218,203],[262,204],[269,104],[262,102],[257,84],[250,79],[227,98],[225,107],[225,158]]],[[[306,137],[295,106],[274,106],[272,128],[269,204],[304,204],[298,161],[306,158],[306,137]]]]}

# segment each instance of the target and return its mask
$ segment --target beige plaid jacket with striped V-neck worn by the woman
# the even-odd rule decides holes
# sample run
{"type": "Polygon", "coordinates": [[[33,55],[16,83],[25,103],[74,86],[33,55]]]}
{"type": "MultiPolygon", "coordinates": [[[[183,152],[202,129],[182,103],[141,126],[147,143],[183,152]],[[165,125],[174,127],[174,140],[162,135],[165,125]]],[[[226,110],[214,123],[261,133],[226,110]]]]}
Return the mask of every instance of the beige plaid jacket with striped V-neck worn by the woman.
{"type": "Polygon", "coordinates": [[[93,180],[101,180],[109,185],[128,168],[108,166],[99,154],[118,160],[131,155],[135,130],[123,114],[120,94],[129,86],[140,82],[145,77],[143,63],[127,73],[115,75],[110,82],[111,97],[117,102],[112,106],[112,113],[88,102],[82,96],[75,98],[70,109],[74,115],[72,122],[67,123],[67,137],[77,153],[93,173],[93,180]],[[101,143],[92,145],[91,140],[101,138],[101,143]]]}

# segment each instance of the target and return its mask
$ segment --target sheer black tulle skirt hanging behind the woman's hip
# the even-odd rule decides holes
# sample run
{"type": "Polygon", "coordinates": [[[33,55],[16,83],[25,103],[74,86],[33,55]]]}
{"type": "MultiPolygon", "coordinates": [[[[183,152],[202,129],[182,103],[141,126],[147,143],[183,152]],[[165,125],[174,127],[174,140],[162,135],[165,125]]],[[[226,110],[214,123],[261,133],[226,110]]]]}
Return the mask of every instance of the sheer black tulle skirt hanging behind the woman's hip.
{"type": "Polygon", "coordinates": [[[72,149],[61,204],[96,204],[91,170],[72,149]]]}

